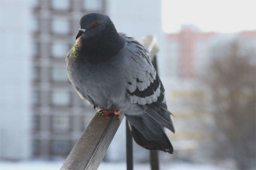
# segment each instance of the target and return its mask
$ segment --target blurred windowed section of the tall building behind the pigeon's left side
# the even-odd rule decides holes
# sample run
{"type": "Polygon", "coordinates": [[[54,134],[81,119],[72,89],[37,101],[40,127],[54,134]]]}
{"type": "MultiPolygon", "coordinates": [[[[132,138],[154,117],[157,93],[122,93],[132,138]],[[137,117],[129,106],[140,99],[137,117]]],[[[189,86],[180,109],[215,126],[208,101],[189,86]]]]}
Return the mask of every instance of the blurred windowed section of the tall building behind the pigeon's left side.
{"type": "Polygon", "coordinates": [[[32,0],[32,156],[67,156],[95,111],[67,80],[65,57],[80,17],[104,0],[32,0]]]}

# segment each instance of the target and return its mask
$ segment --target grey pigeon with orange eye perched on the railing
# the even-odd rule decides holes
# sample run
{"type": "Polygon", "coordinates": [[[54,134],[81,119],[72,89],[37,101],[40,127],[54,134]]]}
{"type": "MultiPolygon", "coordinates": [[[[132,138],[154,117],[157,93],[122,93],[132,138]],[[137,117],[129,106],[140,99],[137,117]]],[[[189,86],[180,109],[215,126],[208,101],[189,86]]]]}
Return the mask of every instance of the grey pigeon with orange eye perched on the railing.
{"type": "Polygon", "coordinates": [[[102,115],[125,115],[133,139],[148,150],[170,154],[164,127],[175,133],[165,88],[148,50],[119,33],[106,14],[85,14],[67,54],[67,76],[79,96],[102,115]]]}

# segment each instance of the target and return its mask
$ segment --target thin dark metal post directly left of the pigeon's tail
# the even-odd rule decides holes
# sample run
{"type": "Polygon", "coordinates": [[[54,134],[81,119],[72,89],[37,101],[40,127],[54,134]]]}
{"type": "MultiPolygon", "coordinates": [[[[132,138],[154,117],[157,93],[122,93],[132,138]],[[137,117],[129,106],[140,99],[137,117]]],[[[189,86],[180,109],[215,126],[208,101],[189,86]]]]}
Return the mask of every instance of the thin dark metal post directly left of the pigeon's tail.
{"type": "Polygon", "coordinates": [[[133,170],[133,150],[132,150],[132,136],[130,133],[127,119],[126,123],[126,167],[127,170],[133,170]]]}

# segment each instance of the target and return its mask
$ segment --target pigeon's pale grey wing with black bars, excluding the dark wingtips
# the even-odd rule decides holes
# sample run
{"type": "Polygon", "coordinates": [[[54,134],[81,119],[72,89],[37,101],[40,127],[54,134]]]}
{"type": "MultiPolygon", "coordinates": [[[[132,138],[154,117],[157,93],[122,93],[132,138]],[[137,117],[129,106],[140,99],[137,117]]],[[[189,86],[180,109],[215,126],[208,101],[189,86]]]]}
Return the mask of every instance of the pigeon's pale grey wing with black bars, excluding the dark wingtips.
{"type": "Polygon", "coordinates": [[[149,58],[148,50],[132,37],[125,38],[129,75],[126,83],[126,94],[132,103],[149,105],[162,103],[166,105],[165,89],[149,58]]]}

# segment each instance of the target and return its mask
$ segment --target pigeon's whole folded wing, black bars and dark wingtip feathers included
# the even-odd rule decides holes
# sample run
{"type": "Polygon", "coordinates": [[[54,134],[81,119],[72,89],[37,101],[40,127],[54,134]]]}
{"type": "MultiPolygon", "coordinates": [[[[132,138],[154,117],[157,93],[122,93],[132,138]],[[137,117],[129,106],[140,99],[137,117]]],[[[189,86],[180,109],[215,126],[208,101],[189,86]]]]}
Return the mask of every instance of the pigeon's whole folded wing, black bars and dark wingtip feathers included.
{"type": "MultiPolygon", "coordinates": [[[[144,113],[158,122],[160,126],[167,127],[174,133],[175,130],[170,117],[172,113],[167,110],[166,106],[165,88],[154,70],[148,51],[131,37],[125,37],[125,41],[128,51],[125,58],[129,62],[126,83],[128,98],[131,103],[147,105],[144,113]]],[[[143,116],[143,119],[146,126],[146,122],[150,122],[149,118],[143,116]]],[[[151,125],[152,123],[147,124],[149,128],[151,125]]],[[[137,137],[139,138],[139,136],[137,137]]]]}

